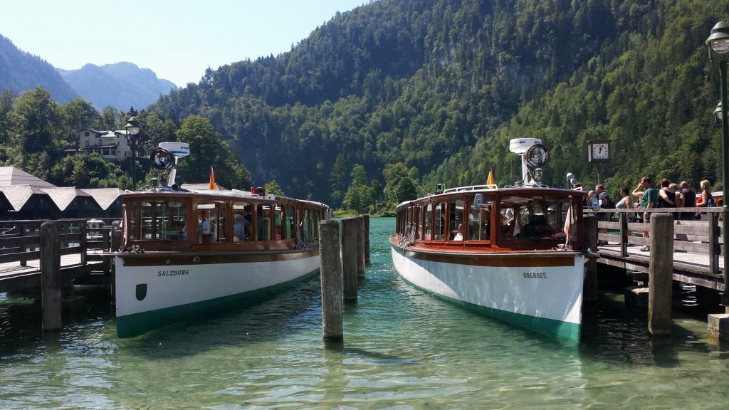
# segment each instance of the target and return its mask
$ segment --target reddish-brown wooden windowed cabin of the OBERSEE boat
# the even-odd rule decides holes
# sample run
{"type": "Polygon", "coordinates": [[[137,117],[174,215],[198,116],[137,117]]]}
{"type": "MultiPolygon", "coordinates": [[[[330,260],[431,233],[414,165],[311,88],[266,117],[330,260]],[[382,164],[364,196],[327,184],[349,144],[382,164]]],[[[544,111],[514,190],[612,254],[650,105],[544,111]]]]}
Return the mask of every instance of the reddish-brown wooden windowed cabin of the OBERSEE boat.
{"type": "Polygon", "coordinates": [[[397,235],[449,250],[582,250],[584,196],[550,187],[453,188],[400,204],[397,235]]]}

